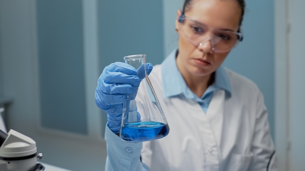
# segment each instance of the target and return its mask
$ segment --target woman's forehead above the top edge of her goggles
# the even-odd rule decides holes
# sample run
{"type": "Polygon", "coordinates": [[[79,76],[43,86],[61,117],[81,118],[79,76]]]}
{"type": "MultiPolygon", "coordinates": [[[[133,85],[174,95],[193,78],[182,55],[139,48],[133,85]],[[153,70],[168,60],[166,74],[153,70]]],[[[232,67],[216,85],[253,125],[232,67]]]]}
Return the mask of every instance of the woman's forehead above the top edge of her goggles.
{"type": "Polygon", "coordinates": [[[241,7],[237,0],[192,0],[185,15],[215,29],[236,31],[241,7]]]}

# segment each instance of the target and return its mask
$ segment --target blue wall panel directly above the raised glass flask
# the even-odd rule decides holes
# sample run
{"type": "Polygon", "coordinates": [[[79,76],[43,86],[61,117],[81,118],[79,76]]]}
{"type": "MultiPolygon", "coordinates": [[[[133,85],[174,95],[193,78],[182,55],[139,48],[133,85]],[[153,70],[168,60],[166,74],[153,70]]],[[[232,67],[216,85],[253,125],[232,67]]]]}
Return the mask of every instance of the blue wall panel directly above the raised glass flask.
{"type": "Polygon", "coordinates": [[[100,69],[131,54],[163,60],[162,0],[99,0],[100,69]]]}

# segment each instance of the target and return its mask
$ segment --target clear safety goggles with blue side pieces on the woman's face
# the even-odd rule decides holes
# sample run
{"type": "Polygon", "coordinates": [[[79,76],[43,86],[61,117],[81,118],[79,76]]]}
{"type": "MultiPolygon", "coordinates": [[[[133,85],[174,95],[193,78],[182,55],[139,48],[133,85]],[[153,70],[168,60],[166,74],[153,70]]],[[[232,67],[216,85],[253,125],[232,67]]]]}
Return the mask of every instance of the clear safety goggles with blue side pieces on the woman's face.
{"type": "Polygon", "coordinates": [[[210,42],[212,51],[228,52],[243,40],[243,34],[240,32],[210,28],[206,24],[186,17],[184,13],[178,21],[181,34],[196,47],[210,42]]]}

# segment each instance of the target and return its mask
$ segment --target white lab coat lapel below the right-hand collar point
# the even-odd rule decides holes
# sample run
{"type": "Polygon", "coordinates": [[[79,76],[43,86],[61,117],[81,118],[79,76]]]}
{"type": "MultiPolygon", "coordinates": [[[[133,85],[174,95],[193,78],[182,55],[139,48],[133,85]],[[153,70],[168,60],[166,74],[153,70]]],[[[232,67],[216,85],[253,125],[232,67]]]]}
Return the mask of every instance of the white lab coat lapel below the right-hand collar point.
{"type": "Polygon", "coordinates": [[[214,133],[218,146],[221,142],[221,135],[223,130],[225,94],[226,93],[223,89],[215,91],[213,93],[213,97],[206,113],[207,119],[210,122],[210,127],[214,133]]]}

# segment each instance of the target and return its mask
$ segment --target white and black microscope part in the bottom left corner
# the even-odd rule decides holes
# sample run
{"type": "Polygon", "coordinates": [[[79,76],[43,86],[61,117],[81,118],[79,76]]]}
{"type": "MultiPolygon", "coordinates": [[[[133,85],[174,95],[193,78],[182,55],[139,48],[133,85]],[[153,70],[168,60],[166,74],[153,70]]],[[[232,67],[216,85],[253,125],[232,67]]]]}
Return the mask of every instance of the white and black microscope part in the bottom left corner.
{"type": "Polygon", "coordinates": [[[0,171],[44,171],[37,158],[42,154],[37,154],[33,139],[12,129],[7,134],[0,130],[0,171]]]}

